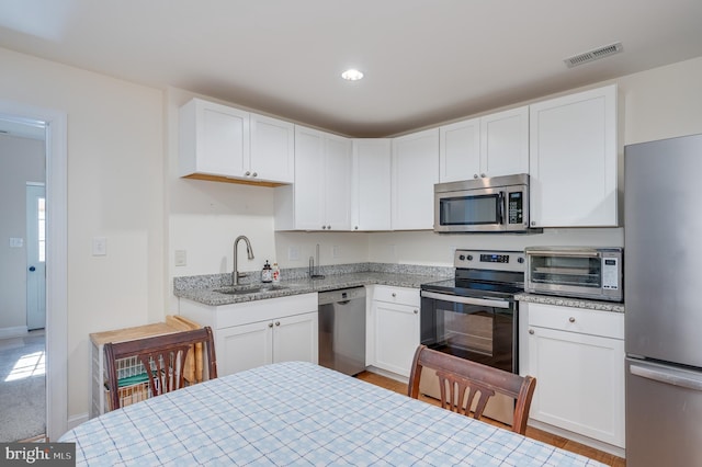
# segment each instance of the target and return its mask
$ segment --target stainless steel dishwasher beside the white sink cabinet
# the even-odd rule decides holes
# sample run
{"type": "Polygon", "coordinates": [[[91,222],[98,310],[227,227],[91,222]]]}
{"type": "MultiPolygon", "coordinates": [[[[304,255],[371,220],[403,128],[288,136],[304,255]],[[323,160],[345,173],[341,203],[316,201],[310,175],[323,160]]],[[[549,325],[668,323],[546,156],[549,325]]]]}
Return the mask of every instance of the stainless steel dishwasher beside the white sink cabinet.
{"type": "Polygon", "coordinates": [[[365,369],[365,287],[319,293],[319,364],[347,375],[365,369]]]}

